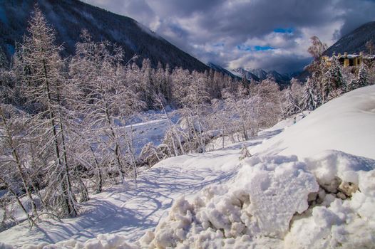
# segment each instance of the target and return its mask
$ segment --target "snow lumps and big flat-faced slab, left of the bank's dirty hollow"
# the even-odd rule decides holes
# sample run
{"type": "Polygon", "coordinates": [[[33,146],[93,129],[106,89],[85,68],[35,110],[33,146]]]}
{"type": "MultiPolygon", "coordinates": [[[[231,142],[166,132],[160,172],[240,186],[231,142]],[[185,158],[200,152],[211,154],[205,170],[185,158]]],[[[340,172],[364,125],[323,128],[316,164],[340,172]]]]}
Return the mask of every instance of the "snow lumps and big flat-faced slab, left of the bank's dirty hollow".
{"type": "Polygon", "coordinates": [[[175,201],[169,216],[139,243],[150,248],[247,248],[254,238],[267,236],[267,244],[275,245],[294,213],[309,207],[309,193],[319,190],[305,166],[297,157],[248,159],[232,183],[209,186],[192,201],[175,201]]]}

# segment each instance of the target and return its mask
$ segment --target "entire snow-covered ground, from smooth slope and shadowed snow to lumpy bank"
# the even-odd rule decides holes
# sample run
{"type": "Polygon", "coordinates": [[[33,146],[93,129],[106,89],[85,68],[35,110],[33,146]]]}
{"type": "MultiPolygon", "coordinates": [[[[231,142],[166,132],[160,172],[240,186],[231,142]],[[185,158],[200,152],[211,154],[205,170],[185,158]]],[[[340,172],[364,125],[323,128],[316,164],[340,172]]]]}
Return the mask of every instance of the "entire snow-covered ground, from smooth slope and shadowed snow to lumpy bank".
{"type": "Polygon", "coordinates": [[[43,221],[32,231],[23,223],[0,241],[25,248],[374,248],[374,85],[245,145],[252,157],[243,160],[242,144],[233,144],[160,161],[130,190],[92,196],[78,218],[43,221]]]}

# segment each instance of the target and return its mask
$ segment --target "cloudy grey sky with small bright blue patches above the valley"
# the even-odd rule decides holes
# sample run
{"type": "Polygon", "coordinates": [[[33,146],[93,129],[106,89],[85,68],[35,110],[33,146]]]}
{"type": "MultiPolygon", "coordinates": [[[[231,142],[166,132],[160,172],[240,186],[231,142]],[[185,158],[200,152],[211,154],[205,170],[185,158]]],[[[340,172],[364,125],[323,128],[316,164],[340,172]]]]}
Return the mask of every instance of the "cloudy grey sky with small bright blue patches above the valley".
{"type": "Polygon", "coordinates": [[[375,21],[375,0],[83,1],[134,18],[204,63],[280,73],[311,61],[311,36],[330,46],[375,21]]]}

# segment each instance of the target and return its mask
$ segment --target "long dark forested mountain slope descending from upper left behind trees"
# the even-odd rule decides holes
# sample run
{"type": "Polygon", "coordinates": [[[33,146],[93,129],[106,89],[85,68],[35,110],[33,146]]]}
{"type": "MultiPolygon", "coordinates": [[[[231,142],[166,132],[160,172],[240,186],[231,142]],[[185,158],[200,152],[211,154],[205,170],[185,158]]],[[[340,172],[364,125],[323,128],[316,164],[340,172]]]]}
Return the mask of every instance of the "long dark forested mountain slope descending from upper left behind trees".
{"type": "Polygon", "coordinates": [[[126,16],[113,14],[78,0],[0,0],[0,47],[8,58],[15,44],[22,41],[35,4],[46,15],[56,31],[58,44],[63,44],[65,56],[72,55],[80,33],[86,28],[93,41],[108,40],[125,51],[125,60],[136,53],[170,68],[182,67],[200,72],[209,68],[191,55],[181,51],[153,31],[126,16]]]}

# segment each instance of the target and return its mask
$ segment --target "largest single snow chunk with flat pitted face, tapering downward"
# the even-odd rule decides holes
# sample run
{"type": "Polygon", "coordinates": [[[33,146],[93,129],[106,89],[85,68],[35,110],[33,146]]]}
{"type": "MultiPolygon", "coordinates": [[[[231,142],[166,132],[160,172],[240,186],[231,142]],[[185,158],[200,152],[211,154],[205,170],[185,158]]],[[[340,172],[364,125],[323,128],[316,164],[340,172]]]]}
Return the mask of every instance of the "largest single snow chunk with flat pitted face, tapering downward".
{"type": "Polygon", "coordinates": [[[262,235],[282,238],[294,213],[308,208],[308,194],[319,190],[314,176],[294,160],[297,158],[263,157],[250,170],[243,168],[239,173],[238,181],[247,181],[250,194],[247,211],[257,219],[262,235]]]}

